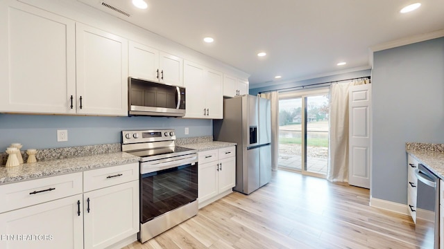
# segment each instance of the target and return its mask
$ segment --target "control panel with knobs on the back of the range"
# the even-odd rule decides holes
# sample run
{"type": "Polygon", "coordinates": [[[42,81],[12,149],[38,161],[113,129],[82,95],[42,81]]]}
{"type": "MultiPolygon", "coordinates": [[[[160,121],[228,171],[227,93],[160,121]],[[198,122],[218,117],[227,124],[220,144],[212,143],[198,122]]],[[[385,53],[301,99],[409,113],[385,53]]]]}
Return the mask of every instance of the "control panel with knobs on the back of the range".
{"type": "Polygon", "coordinates": [[[139,142],[158,142],[176,140],[174,129],[122,131],[124,145],[139,142]]]}

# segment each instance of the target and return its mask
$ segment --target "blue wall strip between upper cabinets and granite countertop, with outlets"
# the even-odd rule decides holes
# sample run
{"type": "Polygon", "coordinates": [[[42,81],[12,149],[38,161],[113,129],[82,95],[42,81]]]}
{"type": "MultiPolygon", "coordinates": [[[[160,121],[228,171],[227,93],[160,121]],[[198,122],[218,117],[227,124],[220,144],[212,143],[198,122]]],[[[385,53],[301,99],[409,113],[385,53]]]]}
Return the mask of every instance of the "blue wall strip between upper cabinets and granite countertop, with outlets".
{"type": "Polygon", "coordinates": [[[161,117],[43,116],[0,113],[0,152],[12,142],[24,149],[46,149],[121,142],[121,131],[176,129],[178,138],[212,136],[212,120],[161,117]],[[189,135],[185,135],[189,127],[189,135]],[[68,130],[68,141],[57,142],[57,129],[68,130]]]}

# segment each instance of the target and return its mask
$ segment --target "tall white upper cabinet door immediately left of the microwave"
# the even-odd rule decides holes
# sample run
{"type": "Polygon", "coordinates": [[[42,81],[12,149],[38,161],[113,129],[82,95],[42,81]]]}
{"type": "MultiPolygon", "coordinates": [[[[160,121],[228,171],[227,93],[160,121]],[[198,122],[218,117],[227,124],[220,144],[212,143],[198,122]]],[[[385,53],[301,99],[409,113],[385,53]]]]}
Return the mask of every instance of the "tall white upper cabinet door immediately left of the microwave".
{"type": "Polygon", "coordinates": [[[76,24],[77,112],[128,116],[128,41],[76,24]]]}

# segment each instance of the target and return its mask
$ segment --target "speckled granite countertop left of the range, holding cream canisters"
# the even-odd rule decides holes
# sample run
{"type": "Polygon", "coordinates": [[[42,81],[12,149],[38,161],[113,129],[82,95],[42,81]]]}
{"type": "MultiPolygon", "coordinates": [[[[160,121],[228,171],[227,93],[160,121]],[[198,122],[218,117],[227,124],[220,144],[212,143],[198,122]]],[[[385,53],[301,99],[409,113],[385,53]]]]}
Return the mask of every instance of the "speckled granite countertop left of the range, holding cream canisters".
{"type": "Polygon", "coordinates": [[[25,163],[16,167],[0,167],[0,185],[137,162],[139,162],[139,157],[137,156],[124,152],[114,152],[56,160],[42,160],[37,161],[37,163],[25,163]]]}

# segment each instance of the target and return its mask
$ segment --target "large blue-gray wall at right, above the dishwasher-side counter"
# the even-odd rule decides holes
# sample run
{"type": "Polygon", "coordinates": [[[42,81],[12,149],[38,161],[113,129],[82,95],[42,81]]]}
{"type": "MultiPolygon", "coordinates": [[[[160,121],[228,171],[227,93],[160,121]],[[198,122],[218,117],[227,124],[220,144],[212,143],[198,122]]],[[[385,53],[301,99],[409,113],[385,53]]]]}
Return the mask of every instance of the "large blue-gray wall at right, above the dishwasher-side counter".
{"type": "Polygon", "coordinates": [[[444,143],[444,38],[373,56],[371,195],[407,203],[405,142],[444,143]]]}

